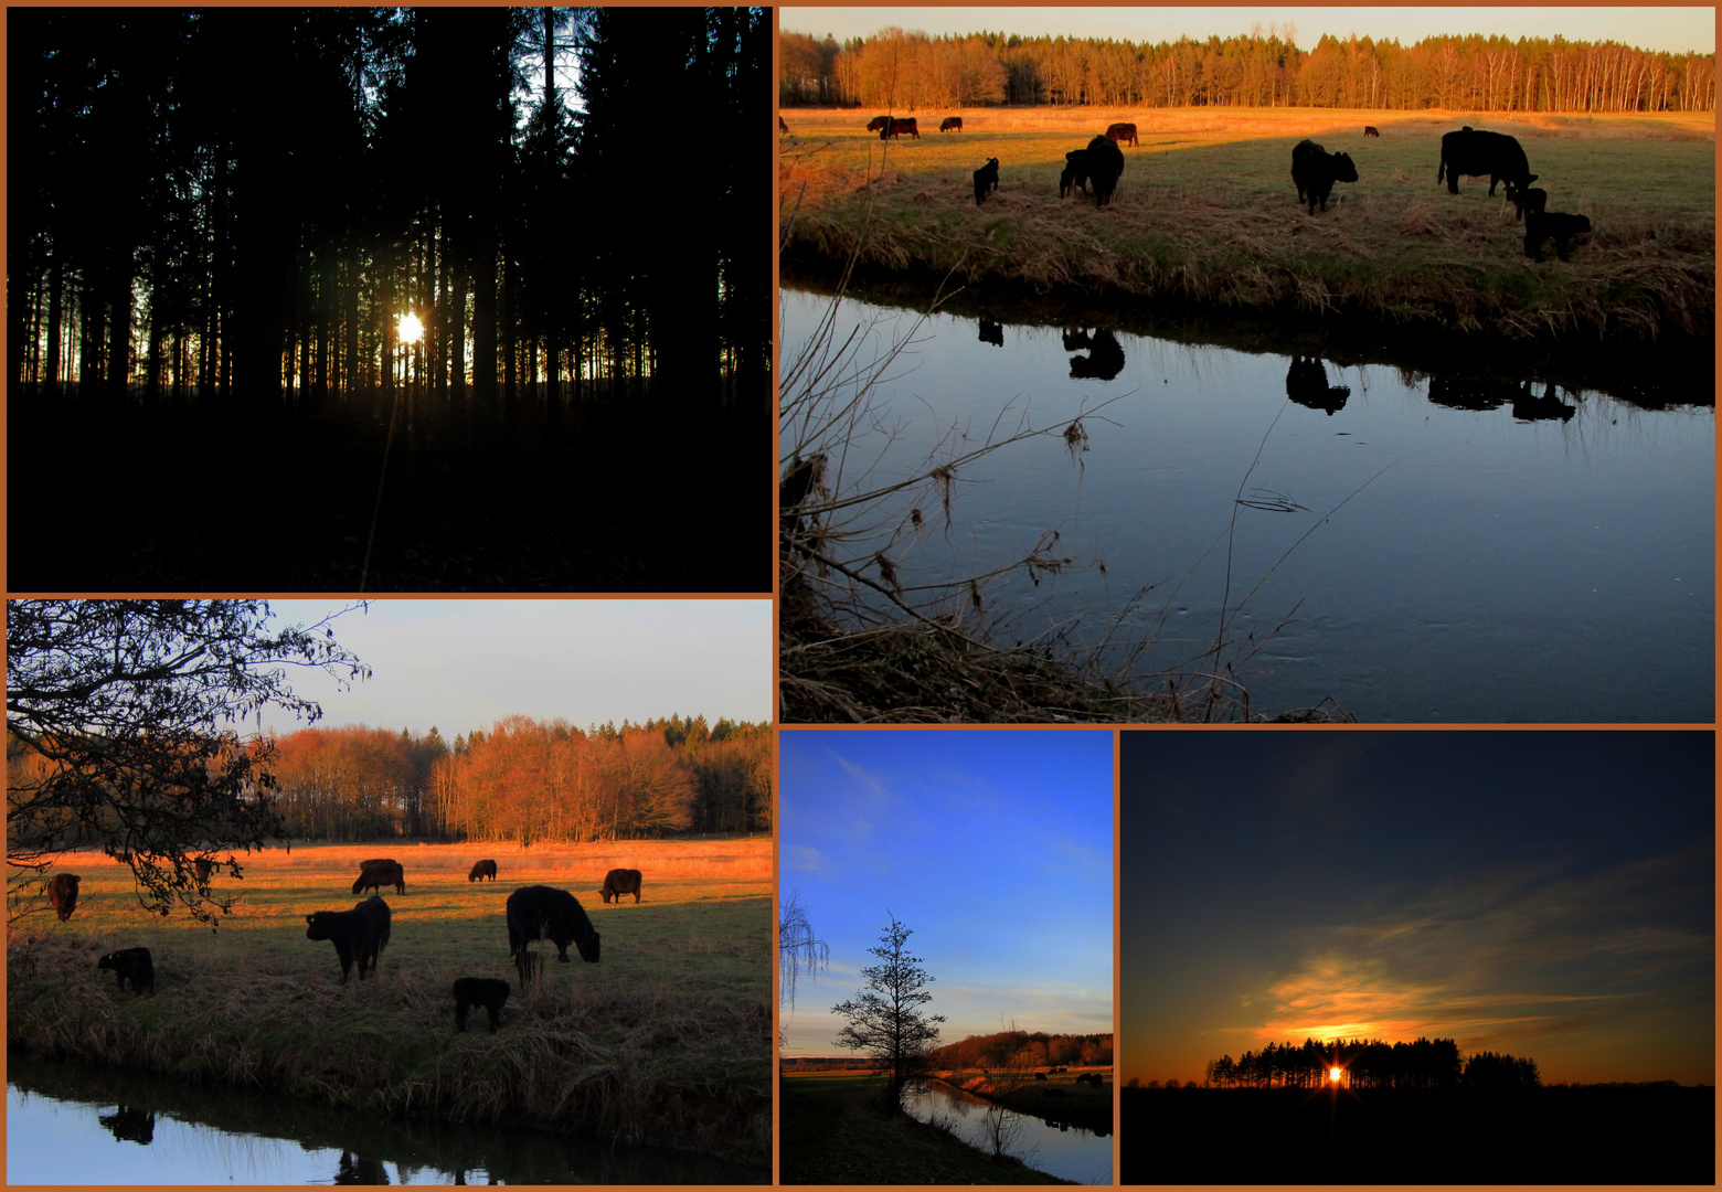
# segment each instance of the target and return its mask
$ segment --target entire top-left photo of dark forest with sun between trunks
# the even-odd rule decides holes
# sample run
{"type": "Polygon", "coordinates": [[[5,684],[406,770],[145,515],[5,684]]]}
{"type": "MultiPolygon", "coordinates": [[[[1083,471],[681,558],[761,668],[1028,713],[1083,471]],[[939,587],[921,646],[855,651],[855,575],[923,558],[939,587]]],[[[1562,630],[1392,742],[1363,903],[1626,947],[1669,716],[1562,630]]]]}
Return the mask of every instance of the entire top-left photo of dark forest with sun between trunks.
{"type": "Polygon", "coordinates": [[[10,589],[770,589],[768,9],[7,36],[10,589]]]}

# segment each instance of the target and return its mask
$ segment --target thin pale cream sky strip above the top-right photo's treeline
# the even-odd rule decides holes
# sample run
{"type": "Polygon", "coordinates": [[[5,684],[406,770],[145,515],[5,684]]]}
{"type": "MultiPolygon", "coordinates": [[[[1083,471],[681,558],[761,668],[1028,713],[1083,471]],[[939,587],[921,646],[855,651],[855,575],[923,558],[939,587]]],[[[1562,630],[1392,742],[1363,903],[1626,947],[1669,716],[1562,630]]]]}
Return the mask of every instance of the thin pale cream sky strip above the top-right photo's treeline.
{"type": "Polygon", "coordinates": [[[928,7],[928,9],[780,9],[778,28],[785,33],[827,33],[839,41],[870,38],[880,29],[899,26],[926,33],[1019,33],[1073,38],[1124,38],[1130,41],[1176,41],[1181,36],[1205,40],[1243,34],[1250,26],[1290,24],[1297,29],[1300,50],[1310,50],[1322,33],[1347,38],[1352,33],[1371,38],[1395,38],[1412,45],[1438,34],[1553,36],[1569,41],[1622,41],[1645,50],[1674,53],[1713,53],[1715,9],[1688,7],[1562,7],[1562,9],[1011,9],[997,5],[928,7]]]}

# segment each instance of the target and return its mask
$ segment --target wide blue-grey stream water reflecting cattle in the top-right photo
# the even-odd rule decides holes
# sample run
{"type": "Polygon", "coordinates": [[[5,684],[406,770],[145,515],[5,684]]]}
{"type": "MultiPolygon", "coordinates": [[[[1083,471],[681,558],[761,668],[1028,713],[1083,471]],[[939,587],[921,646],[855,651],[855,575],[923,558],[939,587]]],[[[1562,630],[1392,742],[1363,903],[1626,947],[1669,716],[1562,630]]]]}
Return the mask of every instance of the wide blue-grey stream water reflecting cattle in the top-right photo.
{"type": "MultiPolygon", "coordinates": [[[[785,376],[828,301],[784,291],[785,376]]],[[[916,319],[846,301],[837,334],[866,327],[875,357],[916,319]]],[[[1102,403],[1080,463],[1049,438],[961,472],[949,534],[933,506],[894,548],[899,582],[990,570],[1057,529],[1057,553],[1106,570],[1011,577],[988,596],[1011,613],[999,637],[1076,625],[1149,641],[1138,674],[1207,672],[1224,610],[1219,665],[1257,711],[1712,722],[1713,394],[1641,408],[1538,377],[935,315],[873,393],[895,438],[863,455],[890,482],[942,432],[968,450],[1025,410],[1062,427],[1102,403]]]]}

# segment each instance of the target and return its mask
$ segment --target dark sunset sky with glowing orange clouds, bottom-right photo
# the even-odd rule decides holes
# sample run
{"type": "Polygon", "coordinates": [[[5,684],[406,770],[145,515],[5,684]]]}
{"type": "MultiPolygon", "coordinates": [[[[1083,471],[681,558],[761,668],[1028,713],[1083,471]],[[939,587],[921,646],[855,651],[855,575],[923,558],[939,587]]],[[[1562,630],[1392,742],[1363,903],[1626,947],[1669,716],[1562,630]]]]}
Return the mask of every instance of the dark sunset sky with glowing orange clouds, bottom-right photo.
{"type": "Polygon", "coordinates": [[[1715,1080],[1712,732],[1126,732],[1119,1080],[1452,1037],[1715,1080]]]}

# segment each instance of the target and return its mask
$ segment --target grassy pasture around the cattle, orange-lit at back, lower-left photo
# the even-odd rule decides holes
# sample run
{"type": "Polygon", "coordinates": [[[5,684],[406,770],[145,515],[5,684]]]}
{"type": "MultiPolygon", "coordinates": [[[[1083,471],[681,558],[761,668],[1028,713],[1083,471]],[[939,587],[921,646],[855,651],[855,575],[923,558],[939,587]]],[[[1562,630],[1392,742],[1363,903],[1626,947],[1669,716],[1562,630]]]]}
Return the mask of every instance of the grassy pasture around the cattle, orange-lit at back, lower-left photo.
{"type": "MultiPolygon", "coordinates": [[[[771,842],[587,846],[363,844],[253,854],[245,897],[210,932],[146,916],[131,872],[69,856],[81,875],[65,923],[19,923],[7,951],[7,1042],[265,1087],[365,1113],[592,1130],[622,1142],[697,1147],[747,1163],[771,1154],[771,842]],[[305,915],[350,910],[358,860],[393,856],[406,892],[384,897],[393,928],[372,980],[343,987],[305,915]],[[479,858],[498,880],[467,882],[479,858]],[[603,904],[611,868],[642,872],[642,901],[603,904]],[[573,892],[603,959],[546,954],[527,994],[508,958],[505,903],[522,885],[573,892]],[[145,946],[155,997],[115,989],[96,959],[145,946]],[[455,1034],[456,977],[508,980],[496,1035],[482,1011],[455,1034]]],[[[548,949],[548,951],[546,951],[548,949]]]]}

